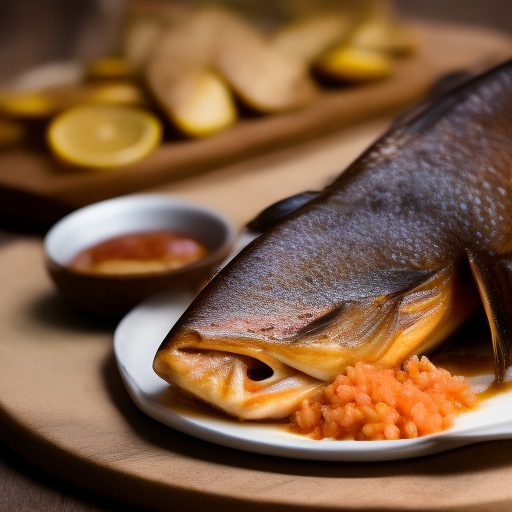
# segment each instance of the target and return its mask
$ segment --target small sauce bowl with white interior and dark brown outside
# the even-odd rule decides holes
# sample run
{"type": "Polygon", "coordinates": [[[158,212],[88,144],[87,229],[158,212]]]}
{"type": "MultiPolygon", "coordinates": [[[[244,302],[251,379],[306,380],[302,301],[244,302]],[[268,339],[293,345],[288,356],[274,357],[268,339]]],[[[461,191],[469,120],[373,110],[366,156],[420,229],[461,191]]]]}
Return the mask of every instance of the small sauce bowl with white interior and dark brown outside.
{"type": "Polygon", "coordinates": [[[171,288],[196,290],[228,256],[236,236],[232,224],[204,206],[164,195],[133,195],[81,208],[57,222],[44,240],[48,271],[59,291],[80,309],[120,318],[149,295],[171,288]],[[170,230],[191,236],[208,254],[186,266],[126,275],[84,273],[69,267],[82,250],[110,238],[170,230]]]}

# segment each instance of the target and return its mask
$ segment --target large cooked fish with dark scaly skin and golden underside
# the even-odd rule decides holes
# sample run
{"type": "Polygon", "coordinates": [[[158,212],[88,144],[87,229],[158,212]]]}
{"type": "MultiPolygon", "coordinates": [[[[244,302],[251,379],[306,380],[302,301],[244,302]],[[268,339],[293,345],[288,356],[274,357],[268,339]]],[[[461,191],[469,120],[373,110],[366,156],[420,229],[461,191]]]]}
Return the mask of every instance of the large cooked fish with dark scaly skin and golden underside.
{"type": "Polygon", "coordinates": [[[429,351],[481,301],[500,381],[511,173],[507,63],[415,108],[321,193],[281,208],[171,330],[156,373],[239,418],[283,417],[347,365],[429,351]]]}

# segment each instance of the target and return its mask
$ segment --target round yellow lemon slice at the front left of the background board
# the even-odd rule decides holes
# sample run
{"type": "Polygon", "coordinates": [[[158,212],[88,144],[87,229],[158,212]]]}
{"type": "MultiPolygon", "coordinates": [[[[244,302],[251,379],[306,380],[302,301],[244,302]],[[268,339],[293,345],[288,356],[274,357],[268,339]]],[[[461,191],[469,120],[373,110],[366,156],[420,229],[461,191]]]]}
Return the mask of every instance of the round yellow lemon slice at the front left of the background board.
{"type": "Polygon", "coordinates": [[[134,163],[162,138],[149,112],[120,105],[84,105],[64,111],[48,128],[48,142],[62,160],[83,167],[115,168],[134,163]]]}

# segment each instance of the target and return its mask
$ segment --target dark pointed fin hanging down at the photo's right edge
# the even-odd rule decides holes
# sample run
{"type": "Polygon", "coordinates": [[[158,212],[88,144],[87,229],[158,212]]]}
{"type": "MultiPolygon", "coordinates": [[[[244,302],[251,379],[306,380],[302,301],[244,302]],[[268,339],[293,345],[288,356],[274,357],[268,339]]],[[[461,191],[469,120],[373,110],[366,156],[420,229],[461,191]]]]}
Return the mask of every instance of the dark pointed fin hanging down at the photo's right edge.
{"type": "Polygon", "coordinates": [[[512,362],[512,263],[488,253],[468,257],[491,328],[496,382],[500,383],[512,362]]]}

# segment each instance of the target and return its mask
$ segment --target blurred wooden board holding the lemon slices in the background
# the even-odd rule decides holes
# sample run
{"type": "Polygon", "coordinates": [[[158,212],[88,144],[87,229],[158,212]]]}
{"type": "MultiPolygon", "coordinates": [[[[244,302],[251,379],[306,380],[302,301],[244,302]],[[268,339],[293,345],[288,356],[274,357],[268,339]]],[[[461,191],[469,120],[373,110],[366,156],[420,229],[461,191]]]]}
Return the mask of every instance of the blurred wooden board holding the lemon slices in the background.
{"type": "Polygon", "coordinates": [[[214,137],[169,142],[144,161],[110,173],[70,170],[48,154],[26,150],[0,154],[0,214],[49,226],[92,202],[127,194],[296,145],[311,137],[419,100],[441,75],[490,67],[512,56],[512,39],[495,32],[421,24],[421,50],[397,62],[391,79],[325,91],[309,108],[239,121],[214,137]]]}

